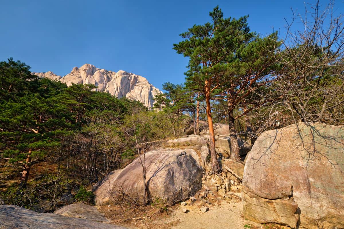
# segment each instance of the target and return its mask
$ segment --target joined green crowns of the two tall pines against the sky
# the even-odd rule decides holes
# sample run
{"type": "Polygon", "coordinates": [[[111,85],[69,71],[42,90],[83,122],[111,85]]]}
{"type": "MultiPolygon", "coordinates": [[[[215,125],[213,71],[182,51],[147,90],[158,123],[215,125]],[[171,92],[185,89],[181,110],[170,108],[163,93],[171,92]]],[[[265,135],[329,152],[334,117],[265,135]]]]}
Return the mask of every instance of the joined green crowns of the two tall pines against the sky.
{"type": "Polygon", "coordinates": [[[229,121],[244,115],[233,116],[235,109],[247,112],[260,104],[252,94],[273,79],[280,43],[277,33],[260,38],[250,32],[248,16],[226,19],[218,6],[209,15],[212,22],[180,34],[185,40],[174,49],[190,57],[186,87],[201,91],[207,101],[226,101],[229,121]]]}

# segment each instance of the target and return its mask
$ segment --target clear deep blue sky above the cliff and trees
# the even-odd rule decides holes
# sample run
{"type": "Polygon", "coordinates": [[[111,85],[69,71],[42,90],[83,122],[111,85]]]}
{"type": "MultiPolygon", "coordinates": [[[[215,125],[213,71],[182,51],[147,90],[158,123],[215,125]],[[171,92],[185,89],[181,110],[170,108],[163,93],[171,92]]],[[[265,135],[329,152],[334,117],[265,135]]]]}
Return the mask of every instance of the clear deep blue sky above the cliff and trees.
{"type": "MultiPolygon", "coordinates": [[[[327,4],[328,1],[321,1],[327,4]]],[[[315,3],[309,0],[308,3],[315,3]]],[[[225,18],[249,14],[251,31],[281,29],[304,1],[52,1],[0,0],[0,60],[13,57],[35,72],[68,74],[73,67],[125,70],[155,87],[184,82],[187,59],[172,49],[179,34],[210,21],[219,5],[225,18]]],[[[344,11],[336,1],[336,12],[344,11]]]]}

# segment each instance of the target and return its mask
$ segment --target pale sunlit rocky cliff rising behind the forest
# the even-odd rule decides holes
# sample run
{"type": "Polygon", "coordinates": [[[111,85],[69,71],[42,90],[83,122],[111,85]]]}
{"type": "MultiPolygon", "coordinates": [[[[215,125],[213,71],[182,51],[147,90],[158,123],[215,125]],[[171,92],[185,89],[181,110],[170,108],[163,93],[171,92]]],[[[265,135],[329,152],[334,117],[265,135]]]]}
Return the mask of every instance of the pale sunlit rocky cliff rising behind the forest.
{"type": "Polygon", "coordinates": [[[96,68],[94,65],[85,64],[80,68],[74,67],[71,73],[61,77],[53,72],[33,72],[39,77],[60,80],[69,87],[75,84],[94,84],[98,88],[95,91],[108,92],[118,98],[126,97],[143,103],[147,107],[153,107],[154,96],[162,93],[142,76],[126,71],[108,71],[96,68]]]}

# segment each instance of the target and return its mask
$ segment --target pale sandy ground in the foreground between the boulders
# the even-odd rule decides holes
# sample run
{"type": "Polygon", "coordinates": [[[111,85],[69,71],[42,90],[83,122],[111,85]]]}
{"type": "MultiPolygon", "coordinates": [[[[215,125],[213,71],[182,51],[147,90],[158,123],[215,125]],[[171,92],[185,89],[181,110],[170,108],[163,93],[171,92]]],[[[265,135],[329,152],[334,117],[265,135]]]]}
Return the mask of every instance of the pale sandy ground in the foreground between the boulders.
{"type": "MultiPolygon", "coordinates": [[[[214,201],[214,204],[209,205],[207,212],[200,211],[200,208],[206,204],[201,201],[192,203],[190,200],[186,201],[186,206],[175,205],[170,208],[169,213],[159,214],[157,217],[148,220],[130,220],[132,216],[128,215],[123,221],[122,214],[116,214],[117,220],[112,218],[111,223],[128,227],[129,229],[260,229],[263,228],[261,224],[245,220],[243,217],[243,204],[238,198],[222,199],[221,201],[214,201]],[[183,213],[183,208],[187,209],[183,213]],[[121,216],[121,217],[120,217],[121,216]],[[245,227],[245,225],[248,225],[245,227]]],[[[107,209],[104,206],[102,212],[106,213],[107,218],[116,213],[114,209],[107,209]]],[[[151,214],[147,214],[151,215],[151,214]]]]}

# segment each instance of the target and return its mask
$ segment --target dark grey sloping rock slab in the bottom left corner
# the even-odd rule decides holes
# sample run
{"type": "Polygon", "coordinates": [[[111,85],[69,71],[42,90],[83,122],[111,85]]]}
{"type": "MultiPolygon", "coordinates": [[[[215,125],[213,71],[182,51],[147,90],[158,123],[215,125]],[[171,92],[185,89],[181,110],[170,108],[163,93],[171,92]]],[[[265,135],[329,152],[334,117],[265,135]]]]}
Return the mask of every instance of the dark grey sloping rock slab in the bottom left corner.
{"type": "Polygon", "coordinates": [[[87,219],[71,218],[53,213],[37,213],[14,205],[0,205],[1,229],[126,229],[125,227],[103,224],[87,219]]]}

